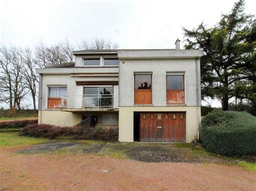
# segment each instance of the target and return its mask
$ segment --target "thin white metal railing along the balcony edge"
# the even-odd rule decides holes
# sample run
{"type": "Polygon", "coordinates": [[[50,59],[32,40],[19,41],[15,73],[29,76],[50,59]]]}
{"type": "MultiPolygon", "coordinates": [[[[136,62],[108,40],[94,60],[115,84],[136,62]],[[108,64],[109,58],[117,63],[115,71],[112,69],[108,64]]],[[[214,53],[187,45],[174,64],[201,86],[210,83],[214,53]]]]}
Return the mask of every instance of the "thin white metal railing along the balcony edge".
{"type": "Polygon", "coordinates": [[[84,94],[63,96],[62,108],[118,108],[118,95],[84,94]]]}

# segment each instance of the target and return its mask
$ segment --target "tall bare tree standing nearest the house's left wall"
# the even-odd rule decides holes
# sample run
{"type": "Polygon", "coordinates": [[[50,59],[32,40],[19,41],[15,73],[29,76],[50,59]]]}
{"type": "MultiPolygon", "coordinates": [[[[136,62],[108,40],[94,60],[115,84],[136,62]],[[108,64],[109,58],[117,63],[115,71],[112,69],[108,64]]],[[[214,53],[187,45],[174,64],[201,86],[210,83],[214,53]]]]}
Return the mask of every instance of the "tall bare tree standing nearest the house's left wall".
{"type": "Polygon", "coordinates": [[[33,54],[30,48],[25,48],[23,52],[23,66],[21,73],[23,75],[23,84],[29,89],[33,100],[33,110],[36,112],[36,90],[39,83],[36,73],[36,62],[33,59],[33,54]]]}

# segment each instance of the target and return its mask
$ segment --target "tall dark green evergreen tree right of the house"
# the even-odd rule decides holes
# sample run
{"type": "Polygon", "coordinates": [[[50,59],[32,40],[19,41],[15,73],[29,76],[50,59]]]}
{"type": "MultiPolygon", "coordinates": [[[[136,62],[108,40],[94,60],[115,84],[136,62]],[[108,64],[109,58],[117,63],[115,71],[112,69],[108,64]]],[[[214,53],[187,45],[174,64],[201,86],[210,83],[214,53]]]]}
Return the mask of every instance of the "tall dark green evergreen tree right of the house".
{"type": "Polygon", "coordinates": [[[244,0],[221,15],[219,23],[183,28],[186,49],[200,49],[202,98],[218,98],[223,110],[228,100],[243,97],[255,104],[255,20],[244,12],[244,0]],[[242,88],[241,88],[242,87],[242,88]]]}

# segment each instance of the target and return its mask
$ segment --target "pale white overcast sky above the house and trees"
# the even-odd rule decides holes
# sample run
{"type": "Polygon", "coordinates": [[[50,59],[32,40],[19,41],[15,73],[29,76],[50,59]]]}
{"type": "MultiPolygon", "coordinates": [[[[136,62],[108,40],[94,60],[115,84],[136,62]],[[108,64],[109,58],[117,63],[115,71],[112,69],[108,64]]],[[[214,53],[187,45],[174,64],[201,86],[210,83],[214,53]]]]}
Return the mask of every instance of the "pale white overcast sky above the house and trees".
{"type": "MultiPolygon", "coordinates": [[[[120,48],[174,48],[183,40],[182,27],[213,26],[234,2],[0,0],[0,43],[32,47],[41,40],[106,38],[120,48]]],[[[246,1],[247,13],[255,14],[255,7],[255,0],[246,1]]]]}

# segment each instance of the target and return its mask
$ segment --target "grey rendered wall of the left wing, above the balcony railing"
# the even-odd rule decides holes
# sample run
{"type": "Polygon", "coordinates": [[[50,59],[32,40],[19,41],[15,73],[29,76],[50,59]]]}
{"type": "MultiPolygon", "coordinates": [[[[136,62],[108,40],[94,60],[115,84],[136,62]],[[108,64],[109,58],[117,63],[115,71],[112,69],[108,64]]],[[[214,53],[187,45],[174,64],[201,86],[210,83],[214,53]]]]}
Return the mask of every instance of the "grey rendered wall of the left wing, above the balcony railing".
{"type": "Polygon", "coordinates": [[[43,74],[42,110],[47,109],[48,86],[67,86],[68,95],[82,95],[83,86],[77,86],[76,81],[118,81],[118,77],[73,77],[70,74],[43,74]]]}

